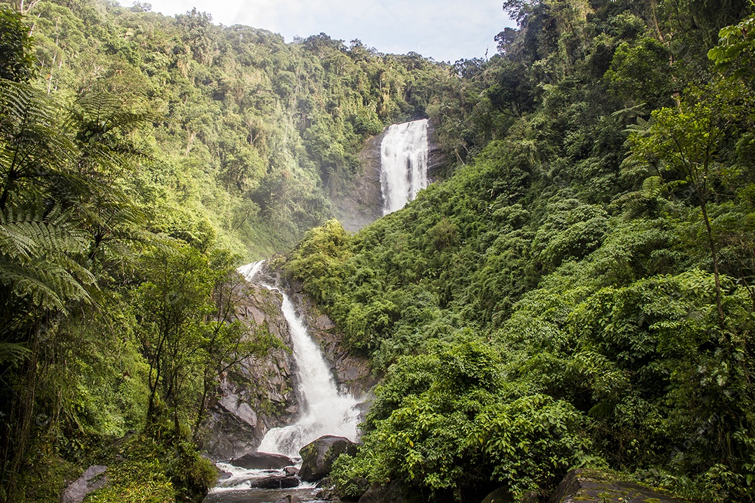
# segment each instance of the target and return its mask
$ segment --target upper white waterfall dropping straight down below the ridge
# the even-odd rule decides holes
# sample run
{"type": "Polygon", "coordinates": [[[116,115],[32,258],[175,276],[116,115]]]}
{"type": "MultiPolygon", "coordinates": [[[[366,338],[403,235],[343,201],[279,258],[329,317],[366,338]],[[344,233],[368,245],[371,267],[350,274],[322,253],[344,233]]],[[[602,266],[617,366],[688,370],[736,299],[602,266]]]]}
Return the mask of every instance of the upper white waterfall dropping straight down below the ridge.
{"type": "Polygon", "coordinates": [[[427,119],[393,124],[381,143],[383,214],[400,210],[427,187],[427,119]]]}

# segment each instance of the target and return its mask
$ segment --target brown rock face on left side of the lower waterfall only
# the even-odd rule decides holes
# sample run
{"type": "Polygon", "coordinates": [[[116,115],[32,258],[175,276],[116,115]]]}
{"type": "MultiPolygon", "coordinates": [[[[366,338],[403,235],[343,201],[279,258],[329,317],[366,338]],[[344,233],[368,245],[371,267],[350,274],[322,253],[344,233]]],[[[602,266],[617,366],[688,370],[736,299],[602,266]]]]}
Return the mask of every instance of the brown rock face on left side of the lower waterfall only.
{"type": "MultiPolygon", "coordinates": [[[[279,293],[244,285],[237,317],[267,327],[291,347],[288,324],[281,312],[279,293]]],[[[213,459],[231,459],[257,449],[270,428],[294,422],[299,397],[293,358],[276,349],[267,357],[250,357],[221,376],[217,400],[210,407],[205,449],[213,459]]]]}

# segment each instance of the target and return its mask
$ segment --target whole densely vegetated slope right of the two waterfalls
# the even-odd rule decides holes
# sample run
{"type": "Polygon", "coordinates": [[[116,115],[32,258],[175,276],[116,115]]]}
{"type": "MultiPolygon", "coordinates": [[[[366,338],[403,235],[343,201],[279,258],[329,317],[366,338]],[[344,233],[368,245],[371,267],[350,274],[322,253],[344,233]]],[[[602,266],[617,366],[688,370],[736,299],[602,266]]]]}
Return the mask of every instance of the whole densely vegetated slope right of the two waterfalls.
{"type": "Polygon", "coordinates": [[[751,7],[505,7],[519,29],[460,65],[472,161],[286,259],[385,372],[337,487],[542,497],[583,465],[750,501],[751,7]]]}

